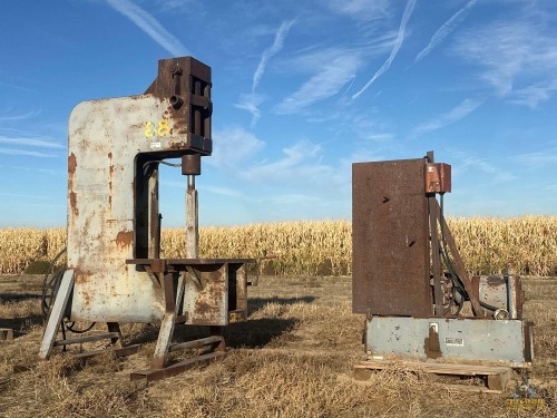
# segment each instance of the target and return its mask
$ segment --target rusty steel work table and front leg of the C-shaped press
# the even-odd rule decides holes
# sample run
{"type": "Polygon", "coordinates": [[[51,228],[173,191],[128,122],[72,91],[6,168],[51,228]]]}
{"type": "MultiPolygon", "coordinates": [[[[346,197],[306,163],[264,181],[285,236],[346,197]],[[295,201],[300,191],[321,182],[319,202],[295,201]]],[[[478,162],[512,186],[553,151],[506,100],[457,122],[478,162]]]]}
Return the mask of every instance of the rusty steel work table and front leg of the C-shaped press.
{"type": "Polygon", "coordinates": [[[127,264],[149,269],[162,283],[165,312],[150,369],[130,378],[158,380],[189,369],[224,353],[221,327],[247,318],[247,274],[251,259],[130,259],[127,264]],[[176,324],[208,325],[211,337],[173,343],[176,324]],[[170,351],[207,347],[212,353],[168,366],[170,351]]]}

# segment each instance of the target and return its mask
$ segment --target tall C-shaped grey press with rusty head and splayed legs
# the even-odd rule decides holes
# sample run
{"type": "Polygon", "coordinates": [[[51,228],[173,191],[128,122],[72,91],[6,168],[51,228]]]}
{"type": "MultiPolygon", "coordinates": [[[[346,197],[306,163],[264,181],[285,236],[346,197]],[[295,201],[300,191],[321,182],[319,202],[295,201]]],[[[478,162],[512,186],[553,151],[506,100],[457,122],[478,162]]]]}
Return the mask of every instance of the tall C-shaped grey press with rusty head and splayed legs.
{"type": "Polygon", "coordinates": [[[211,88],[206,65],[163,59],[144,95],[85,101],[72,110],[67,268],[51,297],[40,358],[55,347],[97,339],[126,354],[133,348],[123,342],[120,322],[160,322],[152,367],[136,373],[156,379],[190,364],[167,367],[169,351],[212,344],[216,351],[203,359],[216,356],[224,348],[221,327],[247,318],[246,263],[253,260],[198,254],[195,176],[213,149],[211,88]],[[180,166],[187,176],[185,259],[160,257],[159,164],[180,166]],[[104,322],[108,332],[66,338],[74,321],[104,322]],[[174,344],[177,324],[208,325],[211,337],[174,344]]]}

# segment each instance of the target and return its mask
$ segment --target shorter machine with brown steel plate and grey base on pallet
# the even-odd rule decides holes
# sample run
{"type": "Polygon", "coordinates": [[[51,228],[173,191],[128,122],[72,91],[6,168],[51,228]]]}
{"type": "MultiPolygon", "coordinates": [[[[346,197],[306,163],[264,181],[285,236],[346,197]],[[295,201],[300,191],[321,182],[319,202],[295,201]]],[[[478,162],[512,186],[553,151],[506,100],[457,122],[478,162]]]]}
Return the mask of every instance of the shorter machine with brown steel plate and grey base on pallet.
{"type": "Polygon", "coordinates": [[[352,167],[353,311],[369,354],[532,360],[520,279],[470,276],[443,217],[451,167],[424,158],[352,167]],[[440,196],[440,202],[437,196],[440,196]]]}

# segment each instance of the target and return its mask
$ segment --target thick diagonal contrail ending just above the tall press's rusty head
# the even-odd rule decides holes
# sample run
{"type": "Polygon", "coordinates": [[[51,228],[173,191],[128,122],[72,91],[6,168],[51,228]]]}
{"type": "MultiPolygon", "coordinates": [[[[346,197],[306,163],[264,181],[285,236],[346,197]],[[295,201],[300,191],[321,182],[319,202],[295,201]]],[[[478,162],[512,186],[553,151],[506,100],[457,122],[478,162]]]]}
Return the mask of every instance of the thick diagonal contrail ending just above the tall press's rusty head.
{"type": "Polygon", "coordinates": [[[154,16],[129,0],[106,0],[117,12],[131,20],[155,42],[176,57],[190,55],[182,42],[169,33],[154,16]]]}

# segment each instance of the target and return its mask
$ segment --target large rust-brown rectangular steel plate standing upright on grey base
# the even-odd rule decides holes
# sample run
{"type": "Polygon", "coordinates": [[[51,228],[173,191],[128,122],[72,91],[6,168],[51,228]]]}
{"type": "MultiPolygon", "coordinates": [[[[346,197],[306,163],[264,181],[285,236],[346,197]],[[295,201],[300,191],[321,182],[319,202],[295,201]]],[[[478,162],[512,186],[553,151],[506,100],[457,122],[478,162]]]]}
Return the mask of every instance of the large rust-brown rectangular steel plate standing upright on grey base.
{"type": "Polygon", "coordinates": [[[352,165],[354,313],[432,313],[423,184],[422,158],[352,165]]]}

